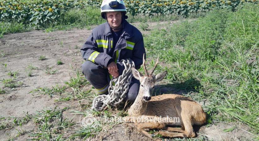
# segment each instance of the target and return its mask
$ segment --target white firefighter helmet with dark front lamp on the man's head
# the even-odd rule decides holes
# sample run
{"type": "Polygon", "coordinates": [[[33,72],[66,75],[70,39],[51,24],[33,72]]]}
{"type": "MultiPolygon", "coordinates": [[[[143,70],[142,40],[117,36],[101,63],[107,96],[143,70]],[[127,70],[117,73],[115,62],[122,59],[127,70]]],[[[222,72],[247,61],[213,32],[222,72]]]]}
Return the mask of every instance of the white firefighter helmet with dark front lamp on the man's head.
{"type": "Polygon", "coordinates": [[[105,18],[105,12],[121,11],[126,14],[126,6],[123,0],[103,0],[101,5],[101,15],[105,18]]]}

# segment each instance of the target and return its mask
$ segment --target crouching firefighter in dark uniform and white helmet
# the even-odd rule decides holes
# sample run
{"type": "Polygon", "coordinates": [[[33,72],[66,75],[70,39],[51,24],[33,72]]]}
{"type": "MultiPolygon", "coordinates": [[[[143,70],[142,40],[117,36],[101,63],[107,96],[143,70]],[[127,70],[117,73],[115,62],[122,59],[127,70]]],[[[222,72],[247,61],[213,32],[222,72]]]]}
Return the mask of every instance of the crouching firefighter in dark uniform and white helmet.
{"type": "MultiPolygon", "coordinates": [[[[106,23],[93,29],[81,54],[83,74],[99,94],[108,94],[111,79],[120,76],[124,66],[120,60],[130,58],[139,69],[143,63],[145,48],[141,32],[127,22],[123,0],[103,0],[101,16],[106,23]]],[[[140,82],[132,77],[126,98],[134,102],[140,82]]]]}

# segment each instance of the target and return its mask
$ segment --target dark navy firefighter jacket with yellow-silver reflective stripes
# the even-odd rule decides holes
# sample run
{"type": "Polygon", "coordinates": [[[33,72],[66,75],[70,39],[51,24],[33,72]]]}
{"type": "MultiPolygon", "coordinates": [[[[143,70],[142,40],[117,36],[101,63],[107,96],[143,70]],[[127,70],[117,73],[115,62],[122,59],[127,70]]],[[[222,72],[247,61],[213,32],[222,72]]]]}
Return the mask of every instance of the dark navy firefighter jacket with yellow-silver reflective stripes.
{"type": "Polygon", "coordinates": [[[107,68],[108,63],[114,61],[117,63],[120,75],[124,70],[123,64],[120,63],[121,59],[130,58],[134,61],[135,68],[139,69],[143,63],[143,54],[145,54],[141,32],[124,20],[122,34],[116,46],[113,45],[112,41],[111,28],[108,22],[97,26],[81,48],[83,59],[92,61],[104,68],[107,68]],[[110,56],[109,54],[113,55],[110,56]]]}

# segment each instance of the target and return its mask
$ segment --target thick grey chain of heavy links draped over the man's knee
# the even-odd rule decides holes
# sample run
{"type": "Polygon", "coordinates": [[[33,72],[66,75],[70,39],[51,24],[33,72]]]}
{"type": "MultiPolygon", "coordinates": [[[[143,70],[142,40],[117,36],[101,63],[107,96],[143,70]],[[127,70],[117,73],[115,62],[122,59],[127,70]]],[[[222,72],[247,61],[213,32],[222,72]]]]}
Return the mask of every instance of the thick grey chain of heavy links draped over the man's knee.
{"type": "Polygon", "coordinates": [[[132,71],[131,68],[135,67],[135,64],[130,59],[122,59],[121,63],[124,65],[125,69],[122,75],[116,79],[110,81],[110,86],[108,88],[108,95],[99,95],[94,98],[92,110],[103,111],[106,106],[117,106],[126,97],[129,85],[131,83],[132,71]],[[113,86],[113,84],[115,84],[113,86]]]}

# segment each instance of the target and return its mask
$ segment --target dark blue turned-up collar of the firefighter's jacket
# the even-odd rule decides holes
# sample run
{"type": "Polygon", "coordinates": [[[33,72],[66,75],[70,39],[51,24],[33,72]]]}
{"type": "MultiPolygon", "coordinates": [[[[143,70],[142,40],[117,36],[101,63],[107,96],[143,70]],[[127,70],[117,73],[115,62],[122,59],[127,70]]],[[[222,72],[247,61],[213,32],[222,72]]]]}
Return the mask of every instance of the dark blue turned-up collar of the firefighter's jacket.
{"type": "MultiPolygon", "coordinates": [[[[105,23],[104,35],[105,36],[111,35],[111,27],[108,24],[108,22],[105,23]]],[[[121,36],[125,36],[126,38],[130,38],[131,36],[133,36],[132,26],[126,20],[124,20],[122,25],[121,36]]]]}

